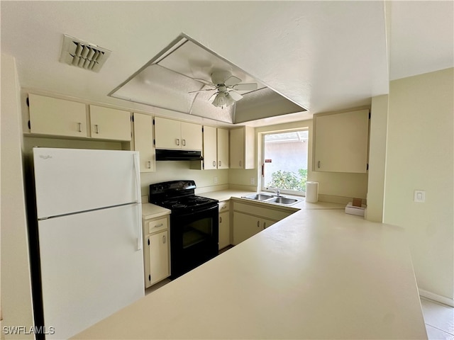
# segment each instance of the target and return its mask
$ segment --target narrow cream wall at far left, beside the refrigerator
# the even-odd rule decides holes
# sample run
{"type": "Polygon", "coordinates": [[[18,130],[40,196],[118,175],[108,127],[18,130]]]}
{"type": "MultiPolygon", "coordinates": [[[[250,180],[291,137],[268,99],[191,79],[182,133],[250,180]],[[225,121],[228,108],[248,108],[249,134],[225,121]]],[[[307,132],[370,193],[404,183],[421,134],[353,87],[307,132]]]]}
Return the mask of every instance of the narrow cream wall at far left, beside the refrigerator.
{"type": "MultiPolygon", "coordinates": [[[[16,62],[1,55],[1,311],[2,327],[33,325],[21,114],[16,62]]],[[[3,329],[2,329],[3,330],[3,329]]],[[[3,331],[2,331],[3,334],[3,331]]],[[[6,335],[33,339],[33,334],[6,335]]]]}

